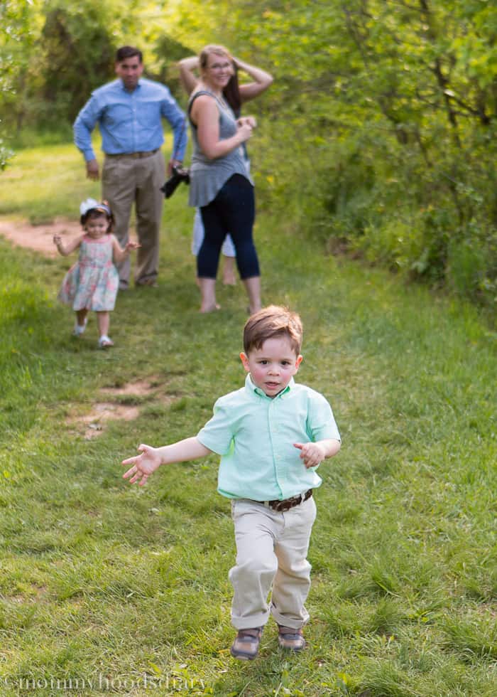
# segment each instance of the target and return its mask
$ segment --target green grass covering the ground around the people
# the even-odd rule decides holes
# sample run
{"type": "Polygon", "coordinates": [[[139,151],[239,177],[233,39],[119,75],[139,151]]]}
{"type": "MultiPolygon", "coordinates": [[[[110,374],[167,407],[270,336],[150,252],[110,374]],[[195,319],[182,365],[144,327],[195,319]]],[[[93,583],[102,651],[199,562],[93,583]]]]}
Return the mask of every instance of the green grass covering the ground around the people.
{"type": "MultiPolygon", "coordinates": [[[[21,151],[0,215],[77,218],[72,146],[21,151]]],[[[229,646],[234,561],[217,458],[121,479],[140,442],[194,435],[244,380],[246,299],[200,316],[192,212],[165,205],[157,289],[118,297],[111,351],[79,341],[55,296],[74,261],[0,239],[0,694],[494,697],[497,683],[496,335],[469,306],[325,257],[291,220],[258,217],[263,299],[305,323],[299,379],[333,405],[307,603],[309,646],[229,646]],[[124,388],[146,381],[151,389],[124,388]],[[102,393],[103,388],[114,392],[102,393]],[[110,396],[109,396],[110,395],[110,396]],[[97,403],[136,407],[84,437],[97,403]]]]}

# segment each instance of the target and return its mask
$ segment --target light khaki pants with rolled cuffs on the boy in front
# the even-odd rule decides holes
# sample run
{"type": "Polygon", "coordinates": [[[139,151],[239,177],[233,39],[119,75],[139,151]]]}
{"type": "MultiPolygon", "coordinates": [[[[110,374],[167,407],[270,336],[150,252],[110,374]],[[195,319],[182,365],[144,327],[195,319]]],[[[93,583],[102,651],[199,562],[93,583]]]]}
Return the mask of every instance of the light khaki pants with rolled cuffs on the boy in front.
{"type": "Polygon", "coordinates": [[[236,541],[236,565],[229,571],[231,624],[236,629],[262,627],[271,612],[278,624],[300,629],[309,619],[304,603],[310,588],[307,550],[316,518],[314,499],[283,513],[234,499],[231,517],[236,541]]]}

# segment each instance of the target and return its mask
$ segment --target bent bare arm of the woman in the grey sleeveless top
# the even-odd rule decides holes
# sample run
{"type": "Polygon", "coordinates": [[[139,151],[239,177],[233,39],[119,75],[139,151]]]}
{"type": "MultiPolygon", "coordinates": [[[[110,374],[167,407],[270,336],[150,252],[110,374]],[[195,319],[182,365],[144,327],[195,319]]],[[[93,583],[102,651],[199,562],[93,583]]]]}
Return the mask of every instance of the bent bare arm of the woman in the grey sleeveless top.
{"type": "Polygon", "coordinates": [[[212,97],[200,95],[192,105],[192,121],[197,126],[197,135],[202,152],[209,159],[224,157],[239,147],[252,135],[253,127],[244,122],[231,138],[219,140],[219,112],[212,97]]]}

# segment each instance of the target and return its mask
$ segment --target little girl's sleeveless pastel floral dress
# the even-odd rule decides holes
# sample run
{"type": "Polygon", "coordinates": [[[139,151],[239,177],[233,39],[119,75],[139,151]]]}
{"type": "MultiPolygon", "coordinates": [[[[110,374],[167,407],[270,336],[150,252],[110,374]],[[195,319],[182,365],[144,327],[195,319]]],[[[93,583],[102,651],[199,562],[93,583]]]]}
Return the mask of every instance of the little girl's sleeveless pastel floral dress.
{"type": "Polygon", "coordinates": [[[97,240],[84,236],[80,256],[62,281],[58,299],[73,310],[114,309],[119,273],[112,262],[112,235],[97,240]]]}

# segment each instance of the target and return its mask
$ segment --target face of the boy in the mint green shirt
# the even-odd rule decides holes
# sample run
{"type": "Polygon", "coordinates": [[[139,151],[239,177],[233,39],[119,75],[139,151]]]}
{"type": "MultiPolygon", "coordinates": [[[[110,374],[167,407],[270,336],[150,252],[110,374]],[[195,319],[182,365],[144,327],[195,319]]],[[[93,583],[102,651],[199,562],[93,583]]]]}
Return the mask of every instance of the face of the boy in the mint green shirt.
{"type": "Polygon", "coordinates": [[[287,336],[266,339],[260,349],[251,349],[249,356],[242,352],[240,358],[253,384],[268,397],[285,389],[302,362],[287,336]]]}

